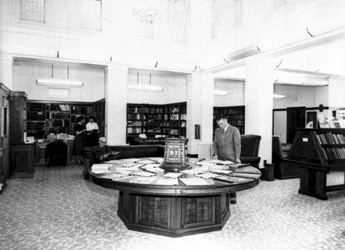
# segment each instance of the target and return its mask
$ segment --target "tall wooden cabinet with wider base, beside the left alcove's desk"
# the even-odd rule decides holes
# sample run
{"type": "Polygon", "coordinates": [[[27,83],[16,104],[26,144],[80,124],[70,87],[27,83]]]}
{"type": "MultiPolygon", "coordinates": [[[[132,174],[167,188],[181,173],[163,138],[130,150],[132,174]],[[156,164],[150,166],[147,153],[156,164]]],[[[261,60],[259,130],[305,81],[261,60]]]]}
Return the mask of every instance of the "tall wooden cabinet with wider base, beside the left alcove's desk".
{"type": "Polygon", "coordinates": [[[26,143],[25,92],[10,92],[10,177],[34,176],[34,143],[26,143]]]}

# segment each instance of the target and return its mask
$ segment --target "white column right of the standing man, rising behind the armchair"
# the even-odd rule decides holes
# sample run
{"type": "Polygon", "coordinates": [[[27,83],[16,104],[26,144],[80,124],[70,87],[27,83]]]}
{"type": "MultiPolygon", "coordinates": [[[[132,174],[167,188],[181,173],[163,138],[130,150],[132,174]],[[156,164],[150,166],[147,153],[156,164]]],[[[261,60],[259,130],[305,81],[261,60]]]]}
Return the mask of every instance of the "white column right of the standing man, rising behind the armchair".
{"type": "Polygon", "coordinates": [[[246,61],[245,134],[262,136],[259,147],[260,167],[272,160],[273,82],[272,59],[253,56],[246,61]]]}

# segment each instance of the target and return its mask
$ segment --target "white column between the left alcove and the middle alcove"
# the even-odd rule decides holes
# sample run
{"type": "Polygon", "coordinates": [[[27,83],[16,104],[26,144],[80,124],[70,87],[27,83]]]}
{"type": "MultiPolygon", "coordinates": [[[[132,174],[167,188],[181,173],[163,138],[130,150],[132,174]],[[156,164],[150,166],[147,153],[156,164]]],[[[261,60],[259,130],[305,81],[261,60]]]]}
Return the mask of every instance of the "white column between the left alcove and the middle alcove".
{"type": "Polygon", "coordinates": [[[106,69],[106,138],[108,145],[126,145],[128,67],[106,69]]]}

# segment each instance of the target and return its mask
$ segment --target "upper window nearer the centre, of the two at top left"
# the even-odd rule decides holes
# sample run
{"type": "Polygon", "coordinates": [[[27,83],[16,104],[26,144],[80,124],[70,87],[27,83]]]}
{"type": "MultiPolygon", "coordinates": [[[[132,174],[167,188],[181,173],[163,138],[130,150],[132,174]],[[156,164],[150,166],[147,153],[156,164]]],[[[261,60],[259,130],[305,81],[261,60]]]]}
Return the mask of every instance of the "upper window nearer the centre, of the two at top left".
{"type": "Polygon", "coordinates": [[[101,1],[81,0],[81,28],[101,30],[101,1]]]}

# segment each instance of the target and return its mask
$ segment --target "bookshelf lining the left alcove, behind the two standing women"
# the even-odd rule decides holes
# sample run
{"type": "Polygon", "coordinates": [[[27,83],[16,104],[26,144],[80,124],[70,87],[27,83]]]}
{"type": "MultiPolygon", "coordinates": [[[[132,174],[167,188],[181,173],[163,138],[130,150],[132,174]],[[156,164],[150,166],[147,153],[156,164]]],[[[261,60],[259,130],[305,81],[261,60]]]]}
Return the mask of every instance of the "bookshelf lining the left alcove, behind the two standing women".
{"type": "Polygon", "coordinates": [[[35,139],[48,138],[50,133],[74,135],[76,118],[84,116],[87,121],[88,116],[93,115],[99,123],[100,133],[104,133],[104,109],[103,100],[96,103],[27,101],[26,132],[35,139]]]}

